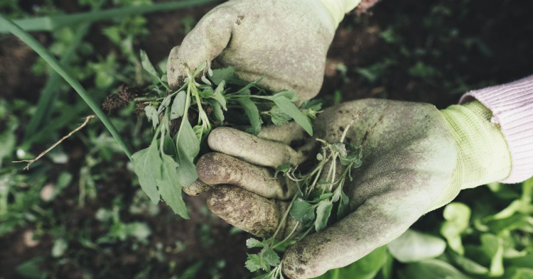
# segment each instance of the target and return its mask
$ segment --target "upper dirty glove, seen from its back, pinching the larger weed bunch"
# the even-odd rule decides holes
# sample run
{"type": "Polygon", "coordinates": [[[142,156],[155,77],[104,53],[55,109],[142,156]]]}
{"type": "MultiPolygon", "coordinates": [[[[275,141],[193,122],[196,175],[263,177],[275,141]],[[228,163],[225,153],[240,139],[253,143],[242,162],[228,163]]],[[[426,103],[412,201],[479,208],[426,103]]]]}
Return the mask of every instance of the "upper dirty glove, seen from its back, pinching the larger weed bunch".
{"type": "Polygon", "coordinates": [[[235,67],[239,79],[273,92],[290,89],[301,102],[321,88],[335,28],[359,0],[231,0],[207,13],[168,55],[167,77],[178,89],[203,62],[235,67]],[[346,2],[346,3],[345,3],[346,2]],[[350,2],[348,4],[348,2],[350,2]]]}

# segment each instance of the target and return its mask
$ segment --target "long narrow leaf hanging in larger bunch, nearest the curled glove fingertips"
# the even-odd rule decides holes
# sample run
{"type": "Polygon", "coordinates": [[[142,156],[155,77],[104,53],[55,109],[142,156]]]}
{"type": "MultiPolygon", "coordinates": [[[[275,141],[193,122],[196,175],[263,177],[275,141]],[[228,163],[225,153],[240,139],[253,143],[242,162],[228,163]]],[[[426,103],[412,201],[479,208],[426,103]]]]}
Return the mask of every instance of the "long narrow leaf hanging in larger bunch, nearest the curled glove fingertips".
{"type": "Polygon", "coordinates": [[[181,123],[180,131],[176,134],[176,146],[178,149],[178,177],[183,187],[188,187],[198,179],[194,159],[200,152],[200,141],[196,137],[189,121],[181,123]]]}

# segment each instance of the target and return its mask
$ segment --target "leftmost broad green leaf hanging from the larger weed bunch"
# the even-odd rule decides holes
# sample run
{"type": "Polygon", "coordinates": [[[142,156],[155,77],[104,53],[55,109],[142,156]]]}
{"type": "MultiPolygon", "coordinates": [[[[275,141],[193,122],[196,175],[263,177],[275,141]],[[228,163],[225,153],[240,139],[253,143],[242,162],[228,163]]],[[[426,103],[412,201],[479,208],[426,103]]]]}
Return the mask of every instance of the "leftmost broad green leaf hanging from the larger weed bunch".
{"type": "Polygon", "coordinates": [[[131,155],[136,175],[142,190],[154,204],[159,202],[156,179],[161,177],[161,158],[157,151],[157,141],[154,139],[149,148],[137,151],[131,155]]]}

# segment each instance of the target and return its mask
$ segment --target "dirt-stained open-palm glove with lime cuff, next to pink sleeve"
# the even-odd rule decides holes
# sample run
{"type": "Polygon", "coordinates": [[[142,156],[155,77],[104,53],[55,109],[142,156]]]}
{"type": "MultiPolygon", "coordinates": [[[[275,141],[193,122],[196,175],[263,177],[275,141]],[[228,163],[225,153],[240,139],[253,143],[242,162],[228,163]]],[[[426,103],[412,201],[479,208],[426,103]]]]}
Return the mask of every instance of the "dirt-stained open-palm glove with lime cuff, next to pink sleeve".
{"type": "MultiPolygon", "coordinates": [[[[313,278],[357,261],[406,231],[423,214],[451,202],[465,188],[501,180],[511,159],[499,126],[479,102],[438,111],[431,104],[365,99],[326,109],[314,121],[318,138],[362,146],[362,166],[352,170],[344,191],[350,214],[291,246],[282,267],[289,278],[313,278]]],[[[198,160],[201,180],[213,186],[208,207],[222,219],[256,236],[271,236],[295,186],[274,178],[271,168],[298,165],[309,152],[291,142],[301,128],[268,127],[252,136],[232,128],[210,134],[212,150],[198,160]],[[266,168],[265,168],[266,167],[266,168]]],[[[280,176],[280,175],[279,175],[280,176]]],[[[281,227],[288,235],[296,221],[281,227]]]]}

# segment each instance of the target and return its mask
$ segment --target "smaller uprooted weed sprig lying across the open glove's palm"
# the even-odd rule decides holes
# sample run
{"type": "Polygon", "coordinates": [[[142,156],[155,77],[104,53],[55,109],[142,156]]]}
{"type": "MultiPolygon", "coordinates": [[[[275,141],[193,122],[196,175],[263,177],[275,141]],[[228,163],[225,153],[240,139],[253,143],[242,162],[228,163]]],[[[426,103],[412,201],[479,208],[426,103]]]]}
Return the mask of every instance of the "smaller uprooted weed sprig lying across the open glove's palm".
{"type": "Polygon", "coordinates": [[[349,198],[343,186],[347,179],[353,180],[352,169],[359,168],[362,164],[362,148],[344,143],[346,132],[352,123],[345,128],[338,143],[328,143],[316,138],[322,143],[322,148],[316,154],[317,163],[310,172],[301,174],[298,172],[298,166],[293,168],[288,164],[276,168],[276,176],[282,173],[289,180],[296,182],[297,192],[270,238],[262,241],[252,238],[246,241],[248,248],[261,248],[258,253],[248,254],[245,264],[252,272],[267,272],[257,278],[283,278],[281,258],[276,252],[283,253],[286,248],[308,234],[321,231],[328,223],[338,221],[347,214],[349,198]],[[336,177],[338,173],[340,175],[336,177]],[[337,212],[335,218],[331,218],[334,208],[337,212]],[[276,236],[289,217],[296,220],[296,224],[285,239],[277,241],[276,236]]]}

